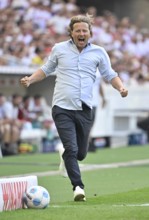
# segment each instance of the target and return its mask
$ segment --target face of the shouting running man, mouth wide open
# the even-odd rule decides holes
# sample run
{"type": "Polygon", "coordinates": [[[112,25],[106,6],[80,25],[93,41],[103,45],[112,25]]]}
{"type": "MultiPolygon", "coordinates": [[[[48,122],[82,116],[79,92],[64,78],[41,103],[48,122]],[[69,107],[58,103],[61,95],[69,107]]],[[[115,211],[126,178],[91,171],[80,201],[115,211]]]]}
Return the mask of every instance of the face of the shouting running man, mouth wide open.
{"type": "Polygon", "coordinates": [[[79,51],[87,45],[88,39],[91,37],[89,26],[85,22],[75,23],[71,31],[71,37],[79,51]]]}

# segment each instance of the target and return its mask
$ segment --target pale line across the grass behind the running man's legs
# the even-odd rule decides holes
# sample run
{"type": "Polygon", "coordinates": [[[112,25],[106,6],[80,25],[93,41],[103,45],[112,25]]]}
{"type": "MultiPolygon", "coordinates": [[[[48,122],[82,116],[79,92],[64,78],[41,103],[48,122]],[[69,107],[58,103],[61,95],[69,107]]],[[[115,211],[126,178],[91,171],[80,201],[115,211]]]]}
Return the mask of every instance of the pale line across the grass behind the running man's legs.
{"type": "MultiPolygon", "coordinates": [[[[118,163],[109,163],[109,164],[80,164],[81,171],[91,171],[91,170],[100,170],[100,169],[111,169],[111,168],[120,168],[120,167],[130,167],[130,166],[139,166],[139,165],[147,165],[149,164],[149,159],[144,160],[132,160],[127,162],[118,162],[118,163]]],[[[45,172],[34,172],[34,173],[26,173],[26,174],[19,174],[13,176],[2,176],[1,178],[7,177],[22,177],[28,175],[35,175],[35,176],[56,176],[60,175],[59,170],[55,171],[45,171],[45,172]]]]}

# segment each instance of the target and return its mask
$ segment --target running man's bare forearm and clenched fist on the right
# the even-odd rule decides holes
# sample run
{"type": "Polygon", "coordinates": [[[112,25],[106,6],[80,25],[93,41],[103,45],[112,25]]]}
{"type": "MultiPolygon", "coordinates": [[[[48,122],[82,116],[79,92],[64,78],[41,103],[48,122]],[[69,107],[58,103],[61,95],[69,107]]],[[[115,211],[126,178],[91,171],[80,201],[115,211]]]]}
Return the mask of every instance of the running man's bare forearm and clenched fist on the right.
{"type": "Polygon", "coordinates": [[[113,88],[120,92],[122,97],[126,97],[128,95],[128,90],[124,87],[121,79],[118,76],[111,80],[111,84],[113,88]]]}

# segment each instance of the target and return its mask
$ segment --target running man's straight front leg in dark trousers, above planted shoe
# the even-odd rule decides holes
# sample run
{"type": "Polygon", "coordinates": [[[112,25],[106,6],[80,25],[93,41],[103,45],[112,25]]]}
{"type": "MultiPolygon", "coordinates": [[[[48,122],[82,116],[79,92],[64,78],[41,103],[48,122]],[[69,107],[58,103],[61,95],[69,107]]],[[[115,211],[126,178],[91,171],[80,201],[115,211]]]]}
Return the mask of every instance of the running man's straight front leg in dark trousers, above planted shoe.
{"type": "Polygon", "coordinates": [[[68,176],[73,185],[84,188],[81,180],[80,169],[77,161],[78,146],[76,137],[75,111],[65,110],[54,106],[52,109],[53,119],[59,133],[59,137],[64,146],[63,159],[68,176]]]}

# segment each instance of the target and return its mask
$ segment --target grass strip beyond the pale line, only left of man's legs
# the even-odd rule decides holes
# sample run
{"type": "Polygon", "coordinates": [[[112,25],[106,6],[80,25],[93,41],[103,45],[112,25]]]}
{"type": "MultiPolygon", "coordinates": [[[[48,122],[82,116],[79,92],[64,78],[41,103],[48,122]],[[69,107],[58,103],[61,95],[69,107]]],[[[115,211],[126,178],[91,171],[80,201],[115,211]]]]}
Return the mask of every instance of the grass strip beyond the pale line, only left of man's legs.
{"type": "Polygon", "coordinates": [[[4,157],[0,160],[0,177],[32,172],[57,170],[59,155],[51,154],[25,154],[13,157],[4,157]]]}

